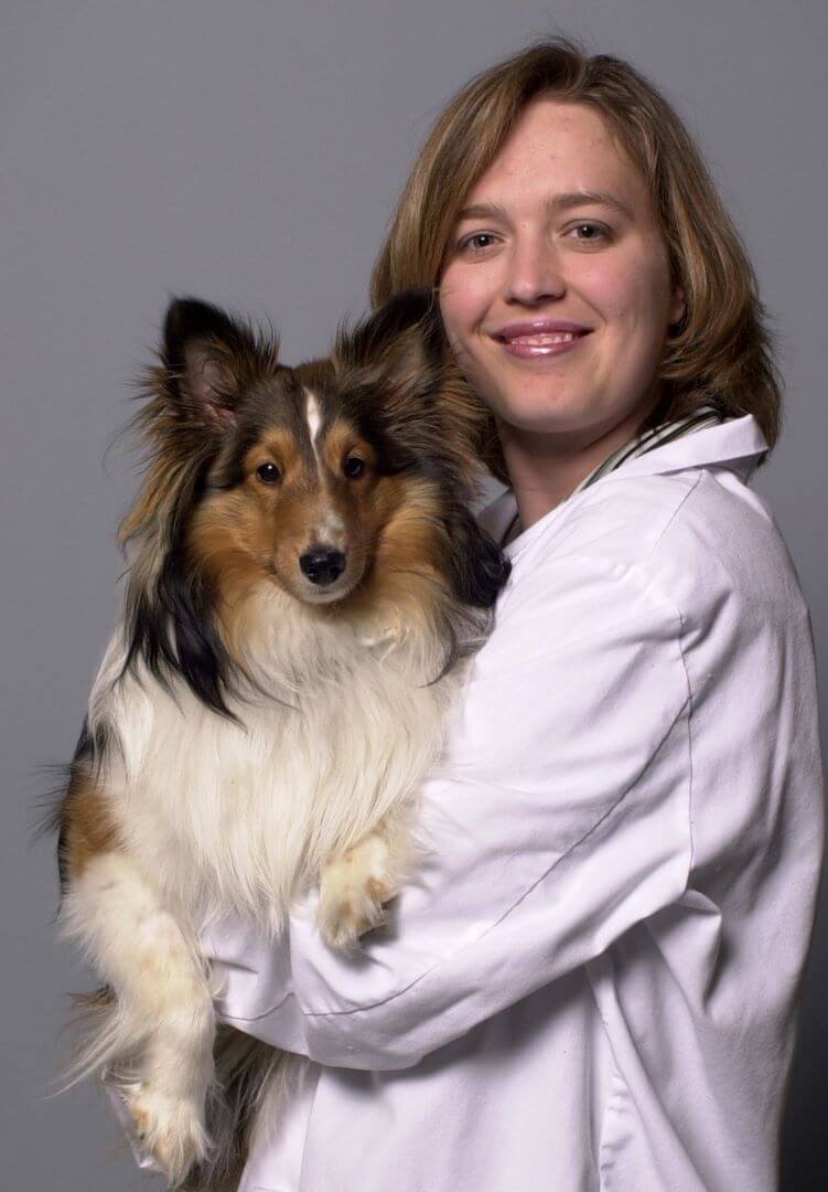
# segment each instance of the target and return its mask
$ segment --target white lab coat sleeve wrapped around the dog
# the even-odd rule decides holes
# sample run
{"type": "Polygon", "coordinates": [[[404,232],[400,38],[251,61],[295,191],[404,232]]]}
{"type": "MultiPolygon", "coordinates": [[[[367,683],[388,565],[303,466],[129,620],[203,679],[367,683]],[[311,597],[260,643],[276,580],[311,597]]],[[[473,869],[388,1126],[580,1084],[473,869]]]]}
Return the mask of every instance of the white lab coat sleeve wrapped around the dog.
{"type": "Polygon", "coordinates": [[[425,783],[428,855],[391,930],[328,949],[315,898],[276,940],[203,938],[225,1020],[330,1066],[405,1068],[600,955],[691,864],[683,621],[645,567],[567,558],[508,590],[425,783]]]}

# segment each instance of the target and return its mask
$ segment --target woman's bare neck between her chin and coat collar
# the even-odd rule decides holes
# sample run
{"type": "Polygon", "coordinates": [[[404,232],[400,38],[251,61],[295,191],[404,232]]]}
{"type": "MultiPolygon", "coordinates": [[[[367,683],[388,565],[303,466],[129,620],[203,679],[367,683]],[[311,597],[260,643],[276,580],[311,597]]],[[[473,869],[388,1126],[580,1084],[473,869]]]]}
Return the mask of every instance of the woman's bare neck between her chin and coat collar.
{"type": "Polygon", "coordinates": [[[572,433],[524,430],[496,418],[523,529],[566,501],[593,468],[634,439],[654,406],[637,405],[605,429],[572,433]]]}

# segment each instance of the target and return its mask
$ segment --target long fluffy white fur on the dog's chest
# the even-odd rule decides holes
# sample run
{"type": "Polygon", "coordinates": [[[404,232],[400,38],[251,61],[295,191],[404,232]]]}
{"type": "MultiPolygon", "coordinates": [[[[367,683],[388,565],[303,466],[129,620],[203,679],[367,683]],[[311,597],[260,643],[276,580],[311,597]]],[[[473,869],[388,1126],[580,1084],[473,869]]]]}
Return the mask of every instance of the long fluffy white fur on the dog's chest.
{"type": "Polygon", "coordinates": [[[118,743],[106,789],[123,846],[197,920],[235,908],[278,927],[328,862],[404,812],[440,753],[461,669],[434,682],[437,642],[300,611],[280,607],[257,635],[236,720],[183,682],[122,675],[120,634],[95,682],[91,724],[118,743]]]}

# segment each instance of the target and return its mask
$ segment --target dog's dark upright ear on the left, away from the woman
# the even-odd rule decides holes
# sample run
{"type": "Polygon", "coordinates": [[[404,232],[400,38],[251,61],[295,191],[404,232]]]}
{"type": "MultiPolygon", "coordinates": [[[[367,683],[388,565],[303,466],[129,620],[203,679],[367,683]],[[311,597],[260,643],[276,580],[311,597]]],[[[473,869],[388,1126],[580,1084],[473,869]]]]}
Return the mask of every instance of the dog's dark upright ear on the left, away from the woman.
{"type": "Polygon", "coordinates": [[[191,426],[211,432],[230,426],[244,389],[273,367],[276,353],[275,343],[264,348],[250,327],[218,306],[198,298],[169,304],[160,353],[164,389],[191,426]]]}

